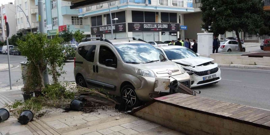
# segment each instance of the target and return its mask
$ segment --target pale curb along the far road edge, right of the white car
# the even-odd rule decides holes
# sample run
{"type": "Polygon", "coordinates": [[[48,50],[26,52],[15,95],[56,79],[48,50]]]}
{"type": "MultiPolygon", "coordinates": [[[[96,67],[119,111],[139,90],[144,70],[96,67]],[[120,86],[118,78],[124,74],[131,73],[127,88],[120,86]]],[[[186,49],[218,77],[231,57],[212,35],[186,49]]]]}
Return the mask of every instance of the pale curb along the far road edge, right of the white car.
{"type": "Polygon", "coordinates": [[[264,65],[218,64],[218,67],[270,70],[270,66],[264,66],[264,65]]]}

